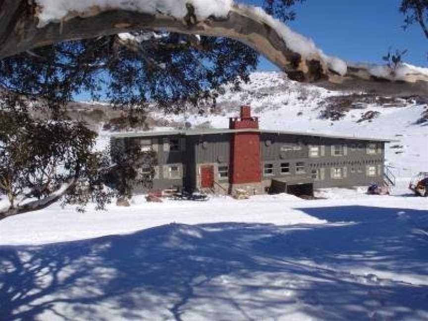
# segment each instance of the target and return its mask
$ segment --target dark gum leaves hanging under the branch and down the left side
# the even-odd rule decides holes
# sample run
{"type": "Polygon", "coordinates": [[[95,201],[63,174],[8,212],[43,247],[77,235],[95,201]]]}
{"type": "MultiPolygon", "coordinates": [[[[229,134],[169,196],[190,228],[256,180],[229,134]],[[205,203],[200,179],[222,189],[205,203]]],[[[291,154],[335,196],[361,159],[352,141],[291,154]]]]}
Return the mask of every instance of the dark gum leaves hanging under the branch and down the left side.
{"type": "MultiPolygon", "coordinates": [[[[296,2],[302,0],[266,0],[265,8],[291,20],[295,14],[289,8],[296,2]]],[[[129,114],[144,112],[151,103],[177,112],[212,105],[221,85],[248,81],[258,62],[254,50],[227,38],[150,30],[130,36],[139,41],[102,36],[0,60],[0,191],[9,198],[9,212],[19,212],[18,199],[48,199],[70,179],[66,203],[95,200],[102,209],[109,202],[112,194],[99,186],[112,181],[111,155],[94,153],[96,134],[66,116],[67,103],[77,94],[103,98],[129,114]]],[[[147,153],[134,155],[116,159],[124,179],[116,177],[118,194],[131,194],[128,181],[141,176],[135,165],[155,162],[147,153]]],[[[149,187],[153,176],[140,178],[149,187]]]]}

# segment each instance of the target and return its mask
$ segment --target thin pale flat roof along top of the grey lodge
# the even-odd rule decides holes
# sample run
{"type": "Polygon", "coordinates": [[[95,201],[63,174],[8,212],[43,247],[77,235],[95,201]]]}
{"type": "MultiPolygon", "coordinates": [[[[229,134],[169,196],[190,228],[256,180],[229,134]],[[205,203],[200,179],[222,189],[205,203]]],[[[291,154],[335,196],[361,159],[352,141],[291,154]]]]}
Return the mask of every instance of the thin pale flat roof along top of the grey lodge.
{"type": "Polygon", "coordinates": [[[397,140],[373,138],[373,137],[358,137],[358,136],[342,136],[320,133],[308,132],[295,132],[295,131],[279,131],[279,130],[261,130],[261,129],[190,129],[190,130],[177,130],[177,131],[146,131],[146,132],[127,132],[112,134],[113,138],[131,138],[131,137],[159,137],[159,136],[194,136],[194,135],[214,135],[214,134],[233,134],[239,132],[260,132],[262,134],[277,134],[277,135],[299,135],[309,137],[323,137],[323,138],[339,138],[359,141],[372,141],[372,142],[397,142],[397,140]]]}

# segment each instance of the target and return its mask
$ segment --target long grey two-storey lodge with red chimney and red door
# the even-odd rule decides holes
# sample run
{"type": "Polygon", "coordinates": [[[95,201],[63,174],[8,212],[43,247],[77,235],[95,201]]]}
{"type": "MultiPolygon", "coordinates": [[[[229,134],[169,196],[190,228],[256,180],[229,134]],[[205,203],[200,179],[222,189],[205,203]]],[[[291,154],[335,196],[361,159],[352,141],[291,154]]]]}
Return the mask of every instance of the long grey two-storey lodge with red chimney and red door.
{"type": "MultiPolygon", "coordinates": [[[[259,129],[248,106],[229,129],[115,134],[111,144],[154,152],[154,191],[165,189],[249,195],[287,192],[312,196],[314,188],[393,184],[384,169],[384,139],[259,129]]],[[[141,168],[143,175],[147,169],[141,168]]],[[[135,193],[146,193],[136,184],[135,193]]]]}

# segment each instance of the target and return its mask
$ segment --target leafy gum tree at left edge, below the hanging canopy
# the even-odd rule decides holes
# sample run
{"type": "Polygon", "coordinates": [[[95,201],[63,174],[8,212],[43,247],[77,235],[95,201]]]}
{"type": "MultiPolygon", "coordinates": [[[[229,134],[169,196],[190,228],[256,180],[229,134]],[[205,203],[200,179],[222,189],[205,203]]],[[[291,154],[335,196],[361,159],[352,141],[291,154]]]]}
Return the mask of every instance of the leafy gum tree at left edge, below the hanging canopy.
{"type": "Polygon", "coordinates": [[[88,160],[95,135],[82,123],[1,110],[0,192],[10,208],[0,218],[49,205],[57,199],[55,191],[72,188],[78,177],[93,170],[88,160]]]}

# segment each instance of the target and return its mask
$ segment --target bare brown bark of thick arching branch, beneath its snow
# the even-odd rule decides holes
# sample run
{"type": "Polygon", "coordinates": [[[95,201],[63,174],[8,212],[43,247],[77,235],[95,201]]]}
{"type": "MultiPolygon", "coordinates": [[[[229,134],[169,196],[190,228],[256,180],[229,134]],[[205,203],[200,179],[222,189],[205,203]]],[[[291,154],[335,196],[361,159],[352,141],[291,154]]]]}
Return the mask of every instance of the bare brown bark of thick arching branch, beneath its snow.
{"type": "MultiPolygon", "coordinates": [[[[31,2],[33,3],[33,2],[31,2]]],[[[428,76],[422,73],[395,81],[393,76],[378,79],[368,67],[348,67],[345,75],[328,68],[319,54],[303,56],[290,50],[277,30],[251,8],[234,6],[225,18],[207,18],[195,24],[159,13],[124,10],[92,12],[92,16],[71,15],[61,23],[38,28],[37,7],[27,0],[0,0],[0,59],[61,41],[95,38],[141,29],[182,34],[227,37],[240,41],[285,71],[291,79],[318,82],[334,89],[376,91],[379,94],[426,95],[428,76]]]]}

